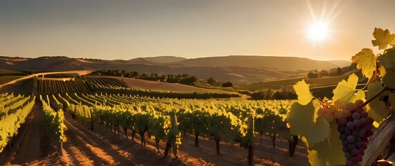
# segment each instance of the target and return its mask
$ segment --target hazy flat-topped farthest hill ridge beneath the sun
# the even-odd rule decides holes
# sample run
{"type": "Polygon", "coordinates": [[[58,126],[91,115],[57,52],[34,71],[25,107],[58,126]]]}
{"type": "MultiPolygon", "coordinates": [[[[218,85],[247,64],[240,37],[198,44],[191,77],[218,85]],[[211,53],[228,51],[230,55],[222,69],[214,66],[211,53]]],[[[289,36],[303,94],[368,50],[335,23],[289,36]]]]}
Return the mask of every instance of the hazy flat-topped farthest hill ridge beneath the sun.
{"type": "Polygon", "coordinates": [[[285,68],[291,70],[313,70],[344,67],[351,64],[349,61],[318,61],[303,57],[266,57],[231,55],[226,57],[201,57],[187,59],[177,64],[190,66],[244,66],[257,68],[285,68]]]}

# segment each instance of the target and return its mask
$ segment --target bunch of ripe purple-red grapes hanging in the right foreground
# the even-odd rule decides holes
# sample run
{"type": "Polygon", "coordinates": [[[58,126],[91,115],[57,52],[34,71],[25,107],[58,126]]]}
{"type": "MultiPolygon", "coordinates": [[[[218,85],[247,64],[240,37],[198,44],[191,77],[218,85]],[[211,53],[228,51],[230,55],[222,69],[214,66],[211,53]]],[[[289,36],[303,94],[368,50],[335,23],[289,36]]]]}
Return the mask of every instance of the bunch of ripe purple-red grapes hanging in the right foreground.
{"type": "Polygon", "coordinates": [[[338,118],[338,131],[342,140],[343,151],[347,159],[346,165],[360,165],[364,150],[367,148],[367,138],[373,134],[371,124],[374,120],[360,108],[363,102],[345,104],[342,118],[338,118]]]}

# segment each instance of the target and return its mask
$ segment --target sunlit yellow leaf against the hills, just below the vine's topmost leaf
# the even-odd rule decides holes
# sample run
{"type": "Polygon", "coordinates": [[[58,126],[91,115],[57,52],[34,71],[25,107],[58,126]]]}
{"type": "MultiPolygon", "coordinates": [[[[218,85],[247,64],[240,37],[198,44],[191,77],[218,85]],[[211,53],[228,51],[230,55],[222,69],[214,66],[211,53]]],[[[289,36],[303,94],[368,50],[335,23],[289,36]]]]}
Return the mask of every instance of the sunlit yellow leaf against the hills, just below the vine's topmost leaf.
{"type": "Polygon", "coordinates": [[[362,74],[369,80],[374,71],[376,71],[377,57],[374,55],[373,50],[363,48],[359,53],[351,58],[353,63],[356,63],[356,68],[362,68],[362,74]]]}

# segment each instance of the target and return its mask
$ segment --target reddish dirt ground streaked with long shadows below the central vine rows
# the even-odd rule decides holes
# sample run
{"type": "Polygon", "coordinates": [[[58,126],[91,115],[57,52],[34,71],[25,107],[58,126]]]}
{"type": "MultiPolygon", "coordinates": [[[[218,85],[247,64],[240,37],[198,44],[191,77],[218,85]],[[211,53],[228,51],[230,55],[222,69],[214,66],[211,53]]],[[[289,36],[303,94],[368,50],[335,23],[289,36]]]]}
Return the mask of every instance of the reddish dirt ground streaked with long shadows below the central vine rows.
{"type": "MultiPolygon", "coordinates": [[[[77,135],[80,135],[77,138],[73,135],[68,136],[68,142],[77,140],[77,145],[73,147],[75,148],[74,152],[70,152],[71,150],[65,147],[67,153],[72,154],[70,158],[74,158],[71,159],[73,163],[79,163],[79,160],[82,160],[80,162],[82,165],[84,163],[88,165],[124,165],[127,163],[125,159],[129,162],[136,162],[135,165],[168,165],[170,162],[171,165],[183,165],[184,163],[187,165],[247,165],[248,163],[248,150],[239,147],[238,144],[231,145],[221,142],[221,155],[218,156],[215,152],[214,140],[199,138],[199,145],[201,146],[194,147],[194,137],[192,135],[187,135],[187,139],[184,135],[182,137],[183,144],[178,151],[180,160],[169,160],[169,158],[160,160],[164,153],[165,142],[160,142],[161,154],[158,154],[156,147],[154,147],[154,140],[147,138],[147,136],[145,136],[145,139],[148,145],[143,148],[139,143],[139,136],[135,136],[135,141],[131,141],[131,131],[128,132],[126,138],[122,128],[120,129],[121,133],[114,133],[111,129],[107,130],[105,127],[95,124],[94,131],[91,131],[68,115],[66,115],[66,120],[68,121],[66,122],[68,127],[70,124],[76,127],[74,129],[69,128],[69,130],[73,130],[77,135]],[[83,145],[87,147],[81,148],[83,145]],[[102,152],[102,154],[99,152],[102,152]],[[111,163],[112,160],[115,163],[111,163]]],[[[297,146],[295,157],[290,158],[288,156],[288,140],[282,138],[277,138],[276,149],[273,149],[272,140],[268,137],[264,137],[261,146],[257,142],[254,160],[255,165],[309,165],[306,147],[297,146]]]]}

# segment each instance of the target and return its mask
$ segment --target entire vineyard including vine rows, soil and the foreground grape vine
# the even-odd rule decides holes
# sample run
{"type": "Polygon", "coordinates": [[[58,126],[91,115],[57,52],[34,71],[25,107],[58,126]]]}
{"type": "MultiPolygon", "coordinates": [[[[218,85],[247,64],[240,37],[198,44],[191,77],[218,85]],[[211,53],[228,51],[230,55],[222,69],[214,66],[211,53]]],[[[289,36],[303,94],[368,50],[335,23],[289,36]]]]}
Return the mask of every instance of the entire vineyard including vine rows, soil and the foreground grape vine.
{"type": "Polygon", "coordinates": [[[0,95],[0,153],[6,151],[0,161],[11,164],[19,131],[26,133],[29,117],[41,113],[45,128],[37,131],[48,133],[63,158],[56,164],[389,165],[395,158],[395,34],[375,28],[374,38],[382,52],[364,48],[352,57],[367,84],[352,73],[331,99],[313,96],[318,90],[304,80],[293,85],[297,100],[246,100],[225,91],[130,89],[116,77],[33,77],[37,95],[0,95]],[[282,158],[265,153],[268,144],[266,150],[281,149],[282,158]]]}

